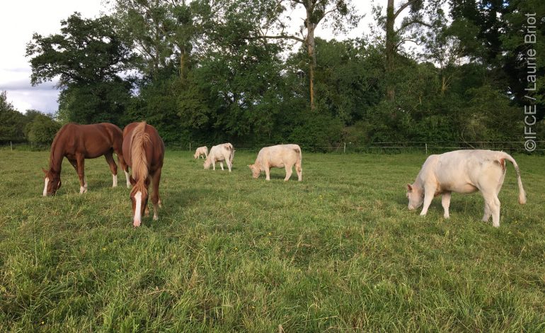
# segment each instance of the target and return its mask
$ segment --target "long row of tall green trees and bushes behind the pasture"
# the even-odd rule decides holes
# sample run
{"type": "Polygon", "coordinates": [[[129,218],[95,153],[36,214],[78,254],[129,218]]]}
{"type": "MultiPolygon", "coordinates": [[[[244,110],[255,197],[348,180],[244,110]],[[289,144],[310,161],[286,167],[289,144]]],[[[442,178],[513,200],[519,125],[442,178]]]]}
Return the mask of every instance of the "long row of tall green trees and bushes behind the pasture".
{"type": "Polygon", "coordinates": [[[318,26],[349,30],[364,13],[348,0],[115,0],[35,34],[27,55],[33,84],[59,78],[60,123],[147,120],[167,143],[521,141],[530,101],[543,124],[544,1],[396,2],[365,13],[369,35],[326,41],[318,26]]]}

